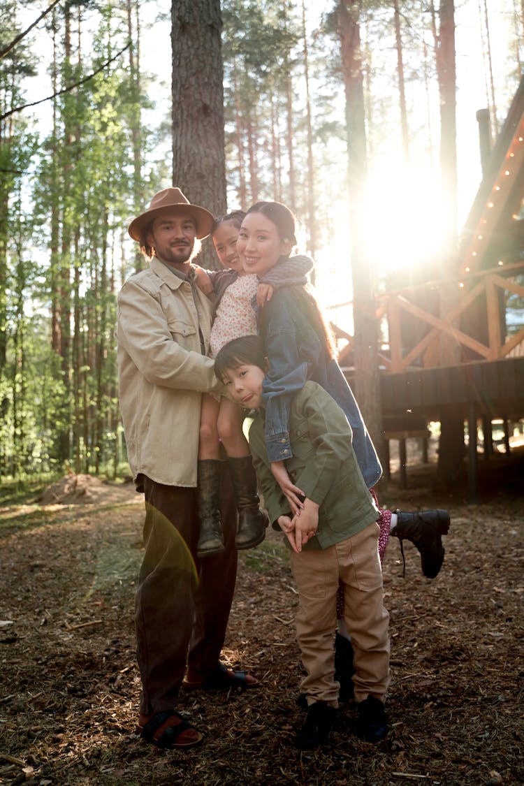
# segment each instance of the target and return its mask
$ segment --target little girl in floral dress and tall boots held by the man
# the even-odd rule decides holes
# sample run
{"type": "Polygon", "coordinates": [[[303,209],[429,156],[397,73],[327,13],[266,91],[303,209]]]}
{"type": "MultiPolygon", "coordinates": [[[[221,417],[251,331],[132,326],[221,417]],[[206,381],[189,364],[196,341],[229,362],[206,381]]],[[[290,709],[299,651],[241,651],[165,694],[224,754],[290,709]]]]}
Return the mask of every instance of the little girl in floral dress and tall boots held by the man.
{"type": "MultiPolygon", "coordinates": [[[[209,271],[195,266],[198,286],[207,295],[214,294],[217,303],[210,339],[212,358],[230,340],[256,334],[252,305],[255,297],[262,306],[271,298],[273,288],[305,285],[313,266],[307,257],[288,259],[279,270],[268,270],[258,283],[255,275],[246,273],[236,253],[236,237],[244,216],[241,211],[219,216],[211,230],[214,248],[225,270],[209,271]]],[[[242,430],[244,417],[244,411],[229,399],[203,394],[198,461],[200,537],[197,552],[200,557],[224,550],[219,513],[221,442],[227,454],[239,512],[236,548],[251,549],[262,542],[266,534],[268,519],[266,512],[258,507],[255,471],[242,430]]]]}

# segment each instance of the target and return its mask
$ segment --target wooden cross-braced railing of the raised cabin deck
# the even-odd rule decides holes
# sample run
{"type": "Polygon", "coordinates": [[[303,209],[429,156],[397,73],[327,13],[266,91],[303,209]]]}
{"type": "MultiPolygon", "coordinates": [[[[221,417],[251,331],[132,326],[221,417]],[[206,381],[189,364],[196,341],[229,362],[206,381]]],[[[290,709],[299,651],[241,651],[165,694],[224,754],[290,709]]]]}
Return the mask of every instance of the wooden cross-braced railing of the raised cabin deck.
{"type": "MultiPolygon", "coordinates": [[[[451,365],[449,356],[442,357],[439,351],[443,338],[453,342],[459,362],[524,355],[524,327],[512,335],[505,330],[506,293],[524,299],[524,286],[515,280],[519,276],[524,276],[524,263],[485,270],[458,281],[432,281],[376,296],[376,318],[382,336],[379,362],[383,369],[401,373],[412,368],[451,365]],[[427,310],[420,302],[430,291],[434,302],[427,310]],[[446,302],[453,305],[442,316],[442,303],[446,302]]],[[[339,326],[333,327],[337,339],[347,341],[340,352],[340,362],[348,365],[353,337],[339,326]]]]}

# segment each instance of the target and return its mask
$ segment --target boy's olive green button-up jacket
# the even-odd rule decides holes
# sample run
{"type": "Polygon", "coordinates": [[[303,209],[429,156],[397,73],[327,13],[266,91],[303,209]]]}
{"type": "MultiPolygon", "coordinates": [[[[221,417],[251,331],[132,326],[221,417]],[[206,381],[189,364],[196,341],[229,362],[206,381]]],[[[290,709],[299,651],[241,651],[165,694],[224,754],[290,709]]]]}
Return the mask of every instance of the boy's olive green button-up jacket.
{"type": "MultiPolygon", "coordinates": [[[[320,505],[317,535],[305,549],[326,549],[379,518],[357,465],[350,424],[339,405],[316,382],[306,382],[295,396],[289,435],[293,456],[284,462],[289,476],[306,497],[320,505]]],[[[291,514],[288,500],[271,472],[263,410],[251,425],[249,446],[264,504],[273,527],[280,530],[278,517],[291,514]]]]}

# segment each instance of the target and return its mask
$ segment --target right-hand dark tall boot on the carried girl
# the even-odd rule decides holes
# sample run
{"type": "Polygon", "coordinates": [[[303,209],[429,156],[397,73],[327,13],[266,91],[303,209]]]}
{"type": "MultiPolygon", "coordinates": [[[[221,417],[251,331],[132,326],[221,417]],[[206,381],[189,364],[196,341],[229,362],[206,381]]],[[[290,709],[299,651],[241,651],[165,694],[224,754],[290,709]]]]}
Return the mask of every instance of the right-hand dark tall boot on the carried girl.
{"type": "Polygon", "coordinates": [[[228,458],[229,475],[238,509],[237,549],[252,549],[266,537],[269,516],[258,507],[257,476],[251,456],[228,458]]]}

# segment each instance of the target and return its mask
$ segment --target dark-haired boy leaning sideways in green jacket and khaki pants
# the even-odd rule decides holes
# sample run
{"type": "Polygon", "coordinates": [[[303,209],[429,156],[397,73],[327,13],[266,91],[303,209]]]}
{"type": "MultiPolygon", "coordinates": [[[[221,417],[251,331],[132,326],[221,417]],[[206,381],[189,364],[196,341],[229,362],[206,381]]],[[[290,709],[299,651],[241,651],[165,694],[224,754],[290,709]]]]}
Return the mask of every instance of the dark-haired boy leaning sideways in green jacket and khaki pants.
{"type": "Polygon", "coordinates": [[[269,518],[291,546],[291,571],[299,591],[297,640],[306,678],[308,714],[295,744],[312,749],[327,738],[338,707],[333,637],[335,597],[342,579],[346,626],[354,647],[354,696],[358,725],[368,742],[387,734],[383,701],[389,685],[389,615],[383,607],[378,553],[379,511],[357,465],[346,416],[315,382],[306,382],[291,406],[292,457],[285,464],[302,490],[303,507],[290,506],[273,478],[264,437],[262,384],[267,361],[258,336],[222,347],[215,373],[231,398],[258,410],[249,446],[269,518]]]}

